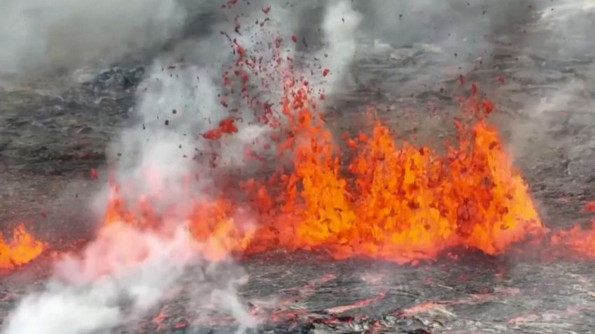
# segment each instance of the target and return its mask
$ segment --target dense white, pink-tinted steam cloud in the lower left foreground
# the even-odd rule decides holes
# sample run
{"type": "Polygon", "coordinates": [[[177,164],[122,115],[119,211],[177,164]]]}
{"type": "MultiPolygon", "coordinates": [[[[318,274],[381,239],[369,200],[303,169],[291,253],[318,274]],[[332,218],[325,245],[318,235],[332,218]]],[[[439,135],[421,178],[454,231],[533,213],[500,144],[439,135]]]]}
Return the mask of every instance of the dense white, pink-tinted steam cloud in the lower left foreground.
{"type": "Polygon", "coordinates": [[[155,305],[197,263],[195,254],[181,230],[165,238],[123,225],[105,228],[80,257],[57,263],[45,291],[21,301],[4,333],[106,331],[155,305]]]}

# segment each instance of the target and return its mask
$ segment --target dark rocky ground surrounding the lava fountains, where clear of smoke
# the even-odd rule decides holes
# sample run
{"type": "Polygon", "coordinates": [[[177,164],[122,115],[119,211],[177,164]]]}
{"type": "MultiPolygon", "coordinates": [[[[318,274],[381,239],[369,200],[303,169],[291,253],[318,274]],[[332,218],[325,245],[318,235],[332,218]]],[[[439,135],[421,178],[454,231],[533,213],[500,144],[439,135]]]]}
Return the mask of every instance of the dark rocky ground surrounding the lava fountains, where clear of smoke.
{"type": "MultiPolygon", "coordinates": [[[[491,122],[498,124],[544,223],[557,229],[587,222],[590,217],[580,209],[595,199],[595,92],[588,84],[595,79],[594,59],[527,52],[514,38],[495,45],[482,64],[468,62],[440,82],[420,80],[428,68],[448,66],[428,45],[391,48],[360,60],[344,94],[335,96],[329,123],[353,131],[353,122],[344,119],[373,103],[400,136],[439,142],[451,134],[454,98],[466,94],[468,82],[476,82],[496,104],[491,122]],[[430,101],[435,112],[428,110],[430,101]]],[[[98,75],[77,73],[74,83],[59,76],[20,85],[1,82],[2,228],[25,221],[40,238],[57,241],[57,235],[84,239],[92,231],[86,206],[106,180],[106,144],[130,123],[134,88],[145,68],[132,64],[98,75]],[[90,178],[91,168],[99,170],[99,180],[90,178]]],[[[595,331],[593,263],[511,257],[471,254],[462,261],[402,267],[271,254],[242,263],[251,279],[241,294],[246,300],[284,300],[272,310],[255,310],[267,314],[262,332],[595,331]]],[[[0,318],[31,282],[43,282],[40,266],[45,265],[0,280],[0,318]]],[[[191,286],[192,277],[184,284],[191,286]]],[[[190,309],[179,300],[174,296],[162,310],[138,319],[138,329],[115,333],[232,331],[228,319],[216,314],[211,323],[197,320],[197,314],[214,310],[190,309]],[[165,316],[155,320],[160,311],[165,316]]]]}

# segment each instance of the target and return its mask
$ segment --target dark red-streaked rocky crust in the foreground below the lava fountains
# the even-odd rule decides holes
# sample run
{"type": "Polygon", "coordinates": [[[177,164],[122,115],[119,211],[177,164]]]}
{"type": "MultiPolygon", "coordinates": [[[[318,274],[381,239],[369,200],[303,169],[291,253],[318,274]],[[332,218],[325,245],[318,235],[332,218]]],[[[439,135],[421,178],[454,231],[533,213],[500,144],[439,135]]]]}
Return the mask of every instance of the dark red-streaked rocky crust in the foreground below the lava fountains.
{"type": "MultiPolygon", "coordinates": [[[[43,261],[0,283],[0,319],[31,289],[43,261]],[[27,284],[25,284],[27,282],[27,284]]],[[[591,333],[595,264],[469,254],[418,266],[267,254],[241,261],[240,297],[258,333],[591,333]],[[299,264],[296,264],[299,263],[299,264]]],[[[209,301],[214,289],[190,270],[146,316],[111,333],[234,333],[235,321],[209,301]]],[[[219,270],[218,273],[225,273],[219,270]]],[[[73,321],[75,321],[73,319],[73,321]]]]}

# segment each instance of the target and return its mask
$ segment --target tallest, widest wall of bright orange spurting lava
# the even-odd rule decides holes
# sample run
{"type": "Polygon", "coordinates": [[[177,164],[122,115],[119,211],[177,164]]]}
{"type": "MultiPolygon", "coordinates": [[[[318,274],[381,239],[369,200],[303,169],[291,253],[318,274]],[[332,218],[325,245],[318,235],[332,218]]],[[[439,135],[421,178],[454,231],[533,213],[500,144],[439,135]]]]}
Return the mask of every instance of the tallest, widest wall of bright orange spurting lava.
{"type": "Polygon", "coordinates": [[[304,92],[292,95],[295,128],[305,139],[290,175],[289,193],[302,200],[290,209],[300,217],[292,247],[405,263],[433,259],[456,245],[500,254],[540,233],[523,180],[512,173],[496,129],[484,122],[491,103],[473,97],[463,105],[475,123],[456,124],[458,143],[445,156],[428,147],[398,147],[377,123],[370,138],[349,141],[359,154],[349,164],[351,175],[342,175],[330,132],[300,101],[307,99],[304,92]]]}

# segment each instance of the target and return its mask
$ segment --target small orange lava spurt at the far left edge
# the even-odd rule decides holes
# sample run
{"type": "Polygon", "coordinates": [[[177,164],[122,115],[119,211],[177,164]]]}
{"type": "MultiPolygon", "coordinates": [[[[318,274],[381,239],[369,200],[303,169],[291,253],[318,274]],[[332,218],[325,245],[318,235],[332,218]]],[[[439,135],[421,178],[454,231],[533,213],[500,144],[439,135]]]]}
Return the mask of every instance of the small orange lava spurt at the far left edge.
{"type": "Polygon", "coordinates": [[[27,232],[25,225],[13,229],[12,240],[4,240],[0,233],[0,268],[13,269],[29,263],[47,249],[45,243],[35,239],[27,232]]]}

